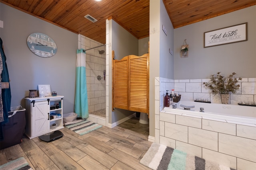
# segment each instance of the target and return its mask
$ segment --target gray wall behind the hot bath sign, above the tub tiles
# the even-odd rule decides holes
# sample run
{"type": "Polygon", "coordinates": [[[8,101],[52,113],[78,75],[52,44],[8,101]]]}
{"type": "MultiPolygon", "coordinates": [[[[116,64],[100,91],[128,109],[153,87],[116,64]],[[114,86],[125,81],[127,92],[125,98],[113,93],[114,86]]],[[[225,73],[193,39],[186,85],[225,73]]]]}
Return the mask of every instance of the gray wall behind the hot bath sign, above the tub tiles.
{"type": "Polygon", "coordinates": [[[174,78],[202,79],[222,72],[256,77],[256,6],[174,29],[174,78]],[[248,41],[204,48],[204,32],[248,22],[248,41]],[[188,58],[180,57],[183,41],[188,58]]]}

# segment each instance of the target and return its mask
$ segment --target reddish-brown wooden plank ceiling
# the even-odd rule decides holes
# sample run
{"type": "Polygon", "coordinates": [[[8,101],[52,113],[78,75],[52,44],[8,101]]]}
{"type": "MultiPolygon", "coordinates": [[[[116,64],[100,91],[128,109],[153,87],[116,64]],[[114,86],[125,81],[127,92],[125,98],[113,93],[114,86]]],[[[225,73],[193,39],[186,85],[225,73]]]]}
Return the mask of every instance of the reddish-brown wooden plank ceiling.
{"type": "MultiPolygon", "coordinates": [[[[106,42],[112,18],[138,39],[149,36],[149,0],[0,0],[13,8],[106,42]],[[84,18],[89,14],[96,21],[84,18]]],[[[256,0],[163,0],[174,28],[256,5],[256,0]]]]}

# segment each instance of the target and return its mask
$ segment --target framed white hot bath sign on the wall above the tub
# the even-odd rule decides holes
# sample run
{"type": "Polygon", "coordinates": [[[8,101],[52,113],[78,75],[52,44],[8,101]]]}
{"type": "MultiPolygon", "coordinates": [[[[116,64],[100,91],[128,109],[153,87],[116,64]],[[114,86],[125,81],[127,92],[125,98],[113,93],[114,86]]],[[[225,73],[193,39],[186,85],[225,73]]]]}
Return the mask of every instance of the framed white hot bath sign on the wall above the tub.
{"type": "Polygon", "coordinates": [[[247,41],[247,22],[204,33],[204,48],[247,41]]]}

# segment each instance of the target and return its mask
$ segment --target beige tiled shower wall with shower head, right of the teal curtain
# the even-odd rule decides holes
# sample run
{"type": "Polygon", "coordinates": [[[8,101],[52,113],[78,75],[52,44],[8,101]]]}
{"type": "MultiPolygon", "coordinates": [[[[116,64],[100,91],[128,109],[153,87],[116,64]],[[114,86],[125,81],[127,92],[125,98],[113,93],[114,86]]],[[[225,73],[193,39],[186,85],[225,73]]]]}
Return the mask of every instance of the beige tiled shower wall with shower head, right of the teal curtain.
{"type": "MultiPolygon", "coordinates": [[[[93,39],[78,35],[78,48],[90,49],[103,45],[93,39]]],[[[86,51],[86,83],[88,94],[89,113],[106,108],[106,52],[100,54],[99,51],[106,51],[106,47],[98,47],[86,51]],[[102,79],[98,80],[97,76],[102,79]]]]}

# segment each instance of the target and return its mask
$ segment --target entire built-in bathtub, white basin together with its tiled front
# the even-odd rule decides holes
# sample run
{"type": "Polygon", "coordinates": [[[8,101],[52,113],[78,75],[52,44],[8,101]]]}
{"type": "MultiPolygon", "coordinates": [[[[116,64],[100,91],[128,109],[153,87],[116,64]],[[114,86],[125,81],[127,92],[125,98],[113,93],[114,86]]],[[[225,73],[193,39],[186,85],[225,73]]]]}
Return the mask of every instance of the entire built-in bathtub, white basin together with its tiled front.
{"type": "Polygon", "coordinates": [[[155,142],[234,169],[255,169],[256,107],[180,101],[155,115],[155,142]],[[185,110],[184,106],[195,106],[185,110]],[[200,112],[204,107],[204,112],[200,112]]]}

